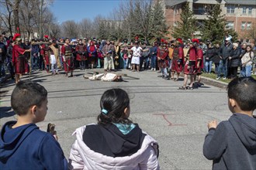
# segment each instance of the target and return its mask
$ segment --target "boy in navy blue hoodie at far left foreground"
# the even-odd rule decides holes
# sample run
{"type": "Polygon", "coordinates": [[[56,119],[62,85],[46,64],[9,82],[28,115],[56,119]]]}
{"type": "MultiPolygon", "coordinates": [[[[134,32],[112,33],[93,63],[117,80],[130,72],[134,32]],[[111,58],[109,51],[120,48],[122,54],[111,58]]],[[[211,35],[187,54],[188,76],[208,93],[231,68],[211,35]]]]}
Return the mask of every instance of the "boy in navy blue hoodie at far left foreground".
{"type": "Polygon", "coordinates": [[[12,91],[11,105],[18,116],[0,136],[0,169],[67,169],[61,146],[37,122],[47,114],[47,90],[32,81],[20,81],[12,91]]]}

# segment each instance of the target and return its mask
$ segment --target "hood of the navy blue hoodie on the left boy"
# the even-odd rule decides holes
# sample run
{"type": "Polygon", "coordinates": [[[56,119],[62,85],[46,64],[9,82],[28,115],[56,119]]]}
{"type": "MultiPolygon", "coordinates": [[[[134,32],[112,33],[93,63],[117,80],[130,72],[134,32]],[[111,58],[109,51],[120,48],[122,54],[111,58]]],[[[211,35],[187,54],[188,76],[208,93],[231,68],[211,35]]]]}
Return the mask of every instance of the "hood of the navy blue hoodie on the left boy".
{"type": "Polygon", "coordinates": [[[11,129],[16,121],[9,121],[3,127],[0,136],[0,159],[7,159],[19,148],[25,138],[34,129],[38,129],[36,124],[25,124],[18,128],[11,129]]]}

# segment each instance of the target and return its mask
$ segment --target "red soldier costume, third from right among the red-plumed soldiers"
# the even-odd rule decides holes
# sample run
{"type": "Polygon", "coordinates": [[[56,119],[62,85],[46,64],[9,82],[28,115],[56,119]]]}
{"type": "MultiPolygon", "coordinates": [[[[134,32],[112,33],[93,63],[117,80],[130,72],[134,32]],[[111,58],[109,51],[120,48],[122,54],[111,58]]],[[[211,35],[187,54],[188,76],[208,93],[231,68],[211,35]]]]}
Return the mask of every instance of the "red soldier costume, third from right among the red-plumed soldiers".
{"type": "Polygon", "coordinates": [[[172,53],[171,72],[182,73],[184,53],[182,47],[175,46],[172,53]]]}

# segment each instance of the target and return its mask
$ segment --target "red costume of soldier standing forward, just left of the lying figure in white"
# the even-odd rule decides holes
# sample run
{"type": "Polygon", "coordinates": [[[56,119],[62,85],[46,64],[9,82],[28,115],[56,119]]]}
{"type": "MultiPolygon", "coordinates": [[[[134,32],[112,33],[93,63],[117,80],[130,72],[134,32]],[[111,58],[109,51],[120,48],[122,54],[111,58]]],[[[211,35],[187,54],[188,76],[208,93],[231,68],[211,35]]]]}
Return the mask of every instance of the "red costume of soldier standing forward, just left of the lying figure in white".
{"type": "Polygon", "coordinates": [[[64,44],[61,47],[61,55],[63,58],[63,66],[66,74],[68,72],[73,72],[74,70],[74,58],[72,55],[72,46],[64,44]]]}

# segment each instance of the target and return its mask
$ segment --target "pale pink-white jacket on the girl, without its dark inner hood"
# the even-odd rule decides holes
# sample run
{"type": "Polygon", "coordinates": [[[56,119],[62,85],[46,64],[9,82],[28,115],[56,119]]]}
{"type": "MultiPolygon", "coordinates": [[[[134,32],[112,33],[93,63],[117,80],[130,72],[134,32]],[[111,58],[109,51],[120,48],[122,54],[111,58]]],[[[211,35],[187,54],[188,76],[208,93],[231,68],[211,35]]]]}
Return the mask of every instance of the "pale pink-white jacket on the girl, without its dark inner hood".
{"type": "MultiPolygon", "coordinates": [[[[92,149],[88,148],[88,146],[85,145],[85,142],[83,141],[83,133],[85,131],[85,128],[86,126],[78,128],[76,131],[74,131],[73,135],[76,135],[77,140],[72,146],[70,158],[78,155],[78,153],[75,152],[78,151],[82,158],[82,162],[79,162],[79,165],[85,164],[85,167],[87,168],[112,169],[113,167],[115,167],[121,169],[138,169],[138,162],[143,162],[145,157],[148,157],[150,154],[152,154],[150,152],[150,148],[153,148],[156,155],[158,154],[157,141],[155,141],[154,138],[143,132],[144,134],[146,134],[144,141],[140,149],[133,155],[116,158],[102,155],[98,152],[92,151],[92,149]]],[[[154,164],[156,163],[152,162],[151,164],[152,166],[155,166],[154,164]]]]}

